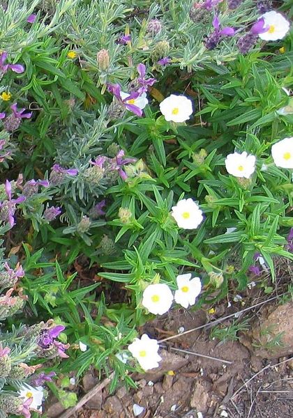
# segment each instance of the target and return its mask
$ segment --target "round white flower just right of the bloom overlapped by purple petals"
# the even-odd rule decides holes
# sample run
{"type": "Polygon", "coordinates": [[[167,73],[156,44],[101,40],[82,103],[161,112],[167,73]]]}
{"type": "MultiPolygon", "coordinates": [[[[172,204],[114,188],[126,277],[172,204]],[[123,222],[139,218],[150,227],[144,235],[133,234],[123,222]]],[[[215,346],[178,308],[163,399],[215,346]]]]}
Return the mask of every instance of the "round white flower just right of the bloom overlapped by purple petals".
{"type": "Polygon", "coordinates": [[[165,116],[166,121],[176,123],[187,121],[193,113],[191,100],[183,95],[172,94],[160,102],[160,111],[165,116]]]}

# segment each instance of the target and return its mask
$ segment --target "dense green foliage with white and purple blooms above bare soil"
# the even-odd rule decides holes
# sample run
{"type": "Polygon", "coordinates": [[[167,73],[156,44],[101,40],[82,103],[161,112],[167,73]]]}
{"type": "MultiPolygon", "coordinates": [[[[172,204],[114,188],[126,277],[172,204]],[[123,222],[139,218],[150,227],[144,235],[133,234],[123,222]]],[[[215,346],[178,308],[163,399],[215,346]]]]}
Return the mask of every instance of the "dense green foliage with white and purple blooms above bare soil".
{"type": "Polygon", "coordinates": [[[292,15],[1,1],[1,417],[49,393],[75,405],[90,367],[135,387],[161,362],[151,319],[276,290],[293,259],[292,15]]]}

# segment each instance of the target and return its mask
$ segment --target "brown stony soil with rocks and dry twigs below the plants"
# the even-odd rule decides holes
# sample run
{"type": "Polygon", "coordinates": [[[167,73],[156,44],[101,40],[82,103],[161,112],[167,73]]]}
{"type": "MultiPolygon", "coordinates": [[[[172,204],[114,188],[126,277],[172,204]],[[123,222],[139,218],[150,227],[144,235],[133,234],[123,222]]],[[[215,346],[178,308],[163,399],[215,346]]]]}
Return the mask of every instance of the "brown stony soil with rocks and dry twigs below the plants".
{"type": "MultiPolygon", "coordinates": [[[[143,331],[164,339],[224,314],[238,316],[243,308],[239,301],[229,308],[219,305],[214,314],[173,311],[143,331]]],[[[212,339],[211,328],[205,326],[162,343],[160,369],[136,375],[136,390],[120,387],[109,395],[106,387],[78,412],[79,418],[293,417],[293,302],[262,304],[238,320],[244,318],[247,329],[236,341],[212,339]]],[[[220,327],[229,327],[233,320],[223,320],[220,327]]],[[[95,373],[87,373],[78,392],[82,396],[97,383],[95,373]]],[[[50,417],[61,414],[57,406],[50,405],[50,417]]]]}

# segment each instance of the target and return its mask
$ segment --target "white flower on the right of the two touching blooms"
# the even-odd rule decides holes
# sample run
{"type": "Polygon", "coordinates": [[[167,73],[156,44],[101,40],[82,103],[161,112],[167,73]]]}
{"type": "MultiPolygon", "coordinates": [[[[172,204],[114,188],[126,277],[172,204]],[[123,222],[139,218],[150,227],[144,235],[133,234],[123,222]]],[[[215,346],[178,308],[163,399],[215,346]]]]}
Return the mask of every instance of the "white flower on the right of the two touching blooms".
{"type": "Polygon", "coordinates": [[[191,273],[179,274],[176,277],[176,281],[178,291],[175,292],[175,301],[181,304],[183,308],[188,308],[189,305],[195,304],[195,299],[202,290],[200,277],[191,279],[191,273]]]}

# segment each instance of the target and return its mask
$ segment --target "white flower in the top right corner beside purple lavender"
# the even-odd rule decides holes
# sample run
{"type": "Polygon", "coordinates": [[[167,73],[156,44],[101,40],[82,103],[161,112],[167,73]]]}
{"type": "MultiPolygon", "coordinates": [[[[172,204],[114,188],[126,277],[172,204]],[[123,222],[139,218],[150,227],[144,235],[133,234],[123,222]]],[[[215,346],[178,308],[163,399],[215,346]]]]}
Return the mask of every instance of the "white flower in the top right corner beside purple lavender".
{"type": "Polygon", "coordinates": [[[264,20],[264,27],[268,30],[264,33],[260,33],[260,39],[263,40],[277,40],[283,39],[286,33],[290,29],[290,22],[280,13],[271,10],[270,12],[264,13],[261,16],[264,20]]]}

